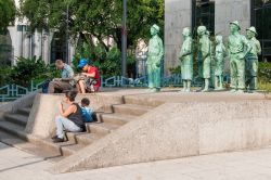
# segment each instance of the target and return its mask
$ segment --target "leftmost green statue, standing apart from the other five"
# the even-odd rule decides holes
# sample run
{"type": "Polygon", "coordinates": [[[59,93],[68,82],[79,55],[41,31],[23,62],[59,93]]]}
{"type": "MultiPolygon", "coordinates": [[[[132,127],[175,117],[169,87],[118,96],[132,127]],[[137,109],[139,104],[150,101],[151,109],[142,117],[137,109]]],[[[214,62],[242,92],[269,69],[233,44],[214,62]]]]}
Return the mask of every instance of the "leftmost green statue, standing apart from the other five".
{"type": "Polygon", "coordinates": [[[147,77],[149,77],[149,89],[151,92],[160,91],[160,65],[164,56],[163,41],[158,36],[160,28],[157,25],[151,27],[152,38],[149,42],[147,52],[147,77]]]}

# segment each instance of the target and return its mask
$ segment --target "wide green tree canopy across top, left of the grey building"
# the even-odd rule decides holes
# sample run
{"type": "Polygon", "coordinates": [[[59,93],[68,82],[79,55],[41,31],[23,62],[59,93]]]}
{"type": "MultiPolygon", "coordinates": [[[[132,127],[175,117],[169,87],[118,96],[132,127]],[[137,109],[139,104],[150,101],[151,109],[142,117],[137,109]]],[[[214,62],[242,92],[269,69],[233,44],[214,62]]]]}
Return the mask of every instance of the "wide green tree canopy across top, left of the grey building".
{"type": "MultiPolygon", "coordinates": [[[[90,44],[95,36],[105,48],[102,40],[112,36],[120,48],[121,0],[22,0],[21,3],[22,15],[29,20],[31,29],[55,28],[65,33],[68,7],[69,35],[80,34],[90,44]]],[[[129,47],[139,38],[147,39],[154,23],[163,29],[164,0],[128,0],[127,5],[129,47]]]]}

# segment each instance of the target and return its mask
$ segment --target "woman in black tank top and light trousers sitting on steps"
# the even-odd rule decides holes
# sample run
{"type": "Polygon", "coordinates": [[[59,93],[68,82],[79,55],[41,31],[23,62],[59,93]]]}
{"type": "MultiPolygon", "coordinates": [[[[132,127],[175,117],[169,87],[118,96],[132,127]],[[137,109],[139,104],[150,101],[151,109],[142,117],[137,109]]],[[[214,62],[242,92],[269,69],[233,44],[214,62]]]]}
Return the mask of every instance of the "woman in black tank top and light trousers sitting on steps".
{"type": "Polygon", "coordinates": [[[64,110],[63,103],[60,104],[60,115],[55,118],[56,136],[53,137],[53,142],[64,142],[64,130],[69,132],[81,132],[85,130],[82,113],[80,106],[75,103],[77,92],[67,91],[65,93],[65,103],[68,107],[64,110]]]}

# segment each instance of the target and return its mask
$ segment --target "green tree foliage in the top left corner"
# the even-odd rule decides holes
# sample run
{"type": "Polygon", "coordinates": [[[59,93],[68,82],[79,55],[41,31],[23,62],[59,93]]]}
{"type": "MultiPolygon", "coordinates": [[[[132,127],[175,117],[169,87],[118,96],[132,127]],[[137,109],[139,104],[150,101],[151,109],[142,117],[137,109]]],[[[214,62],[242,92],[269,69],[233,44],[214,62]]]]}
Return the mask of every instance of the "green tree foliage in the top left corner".
{"type": "Polygon", "coordinates": [[[7,33],[7,27],[14,22],[16,8],[13,0],[0,0],[0,34],[7,33]]]}

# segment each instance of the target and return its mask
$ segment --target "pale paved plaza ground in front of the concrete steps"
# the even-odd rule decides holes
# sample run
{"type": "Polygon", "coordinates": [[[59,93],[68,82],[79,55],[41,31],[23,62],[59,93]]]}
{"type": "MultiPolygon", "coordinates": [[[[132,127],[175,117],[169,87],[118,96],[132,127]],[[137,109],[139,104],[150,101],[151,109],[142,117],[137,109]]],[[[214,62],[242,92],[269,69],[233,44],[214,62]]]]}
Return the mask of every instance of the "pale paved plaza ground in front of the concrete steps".
{"type": "Polygon", "coordinates": [[[1,180],[270,180],[271,147],[52,175],[52,163],[0,143],[1,180]]]}

